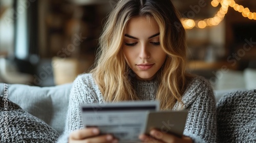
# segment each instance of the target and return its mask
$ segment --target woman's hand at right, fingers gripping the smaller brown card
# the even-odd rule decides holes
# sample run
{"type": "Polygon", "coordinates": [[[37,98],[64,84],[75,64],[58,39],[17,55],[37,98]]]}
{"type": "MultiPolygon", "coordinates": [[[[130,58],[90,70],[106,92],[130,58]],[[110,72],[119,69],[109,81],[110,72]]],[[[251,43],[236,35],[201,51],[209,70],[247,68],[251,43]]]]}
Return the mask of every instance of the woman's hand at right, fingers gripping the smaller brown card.
{"type": "Polygon", "coordinates": [[[151,136],[142,134],[139,136],[139,139],[143,142],[151,142],[151,143],[178,143],[178,142],[182,142],[182,143],[192,143],[192,139],[190,137],[187,136],[182,136],[177,137],[173,134],[168,134],[168,133],[163,133],[160,132],[159,130],[153,129],[150,132],[151,136]]]}

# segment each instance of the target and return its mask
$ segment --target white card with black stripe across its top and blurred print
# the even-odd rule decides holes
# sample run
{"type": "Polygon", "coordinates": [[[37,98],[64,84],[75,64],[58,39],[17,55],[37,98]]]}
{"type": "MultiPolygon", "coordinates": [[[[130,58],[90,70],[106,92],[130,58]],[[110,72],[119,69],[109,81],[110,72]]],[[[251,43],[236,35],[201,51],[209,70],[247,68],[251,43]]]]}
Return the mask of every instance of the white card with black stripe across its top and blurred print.
{"type": "Polygon", "coordinates": [[[84,127],[97,127],[101,134],[113,134],[119,142],[140,142],[147,111],[158,111],[158,101],[133,101],[106,104],[83,104],[84,127]]]}

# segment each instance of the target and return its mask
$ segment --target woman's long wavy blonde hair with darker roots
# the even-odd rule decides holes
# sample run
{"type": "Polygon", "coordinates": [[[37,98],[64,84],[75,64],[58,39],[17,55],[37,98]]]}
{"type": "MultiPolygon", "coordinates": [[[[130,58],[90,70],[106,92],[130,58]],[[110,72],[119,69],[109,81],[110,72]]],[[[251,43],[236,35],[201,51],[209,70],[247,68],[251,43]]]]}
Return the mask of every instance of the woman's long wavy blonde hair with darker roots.
{"type": "Polygon", "coordinates": [[[170,0],[120,0],[105,22],[91,73],[106,102],[139,100],[122,51],[126,24],[135,16],[153,17],[159,25],[160,43],[167,58],[156,76],[156,100],[161,110],[172,109],[177,101],[182,103],[189,76],[185,71],[185,30],[170,0]]]}

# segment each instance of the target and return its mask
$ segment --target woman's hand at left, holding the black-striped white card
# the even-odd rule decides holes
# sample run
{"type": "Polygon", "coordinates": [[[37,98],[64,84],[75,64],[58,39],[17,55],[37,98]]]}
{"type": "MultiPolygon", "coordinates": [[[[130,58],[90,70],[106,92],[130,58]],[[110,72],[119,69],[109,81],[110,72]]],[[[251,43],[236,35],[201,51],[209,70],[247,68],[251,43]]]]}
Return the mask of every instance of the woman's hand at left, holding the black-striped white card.
{"type": "Polygon", "coordinates": [[[104,134],[99,135],[99,129],[98,128],[86,128],[74,131],[69,136],[69,143],[79,143],[79,142],[95,142],[95,143],[103,143],[103,142],[109,142],[114,143],[118,142],[117,139],[113,137],[113,135],[110,134],[104,134]]]}

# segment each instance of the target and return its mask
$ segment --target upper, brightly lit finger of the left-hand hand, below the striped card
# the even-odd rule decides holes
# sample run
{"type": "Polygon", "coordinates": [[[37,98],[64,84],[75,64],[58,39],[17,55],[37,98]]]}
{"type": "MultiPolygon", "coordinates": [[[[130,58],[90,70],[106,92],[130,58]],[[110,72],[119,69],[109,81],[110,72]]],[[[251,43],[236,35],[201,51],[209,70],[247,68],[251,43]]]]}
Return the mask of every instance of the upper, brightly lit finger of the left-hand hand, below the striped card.
{"type": "Polygon", "coordinates": [[[74,131],[70,134],[70,138],[74,140],[80,140],[91,136],[96,136],[99,134],[99,129],[97,128],[87,128],[82,130],[74,131]]]}

